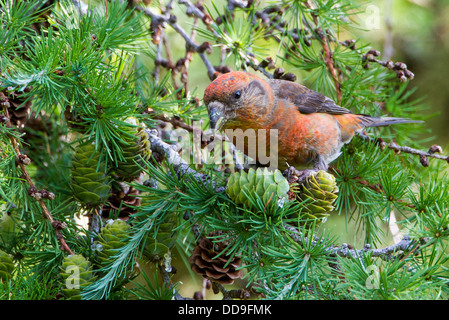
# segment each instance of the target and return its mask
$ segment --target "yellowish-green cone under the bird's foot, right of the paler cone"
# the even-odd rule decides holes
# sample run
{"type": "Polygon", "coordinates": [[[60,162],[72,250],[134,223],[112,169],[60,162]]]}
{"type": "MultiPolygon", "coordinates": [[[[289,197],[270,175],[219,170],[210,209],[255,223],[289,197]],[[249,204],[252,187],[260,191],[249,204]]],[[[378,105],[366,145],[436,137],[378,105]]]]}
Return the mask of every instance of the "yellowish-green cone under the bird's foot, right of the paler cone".
{"type": "Polygon", "coordinates": [[[298,193],[299,201],[308,200],[304,203],[301,217],[324,222],[335,209],[333,204],[337,196],[338,186],[332,174],[323,170],[312,173],[306,178],[298,193]]]}

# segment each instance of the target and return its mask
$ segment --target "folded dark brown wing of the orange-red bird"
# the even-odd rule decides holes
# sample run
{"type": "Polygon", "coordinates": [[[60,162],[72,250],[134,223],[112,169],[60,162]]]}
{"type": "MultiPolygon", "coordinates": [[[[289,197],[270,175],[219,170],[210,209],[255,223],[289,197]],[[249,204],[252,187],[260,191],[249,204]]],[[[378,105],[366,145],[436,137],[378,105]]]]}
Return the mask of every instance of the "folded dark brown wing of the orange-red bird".
{"type": "Polygon", "coordinates": [[[296,82],[271,80],[271,84],[273,88],[277,89],[274,92],[278,99],[290,100],[301,113],[351,113],[348,109],[336,105],[332,99],[296,82]]]}

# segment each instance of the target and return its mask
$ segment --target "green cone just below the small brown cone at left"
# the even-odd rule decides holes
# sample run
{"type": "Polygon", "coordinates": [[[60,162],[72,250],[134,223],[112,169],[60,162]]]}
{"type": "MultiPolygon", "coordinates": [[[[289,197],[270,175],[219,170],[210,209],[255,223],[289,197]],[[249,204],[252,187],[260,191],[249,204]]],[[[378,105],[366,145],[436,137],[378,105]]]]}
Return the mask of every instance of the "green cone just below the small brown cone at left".
{"type": "Polygon", "coordinates": [[[131,226],[123,220],[108,220],[98,234],[98,261],[102,266],[106,266],[112,261],[112,257],[117,254],[117,250],[126,244],[128,231],[131,226]]]}

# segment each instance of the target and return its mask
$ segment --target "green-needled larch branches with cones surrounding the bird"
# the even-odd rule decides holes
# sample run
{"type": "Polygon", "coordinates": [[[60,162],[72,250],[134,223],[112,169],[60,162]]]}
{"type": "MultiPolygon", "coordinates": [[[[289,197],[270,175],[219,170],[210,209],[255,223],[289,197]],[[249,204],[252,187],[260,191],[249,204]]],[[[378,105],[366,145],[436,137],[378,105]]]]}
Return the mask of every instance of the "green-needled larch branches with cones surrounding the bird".
{"type": "Polygon", "coordinates": [[[425,123],[370,128],[303,184],[211,160],[234,149],[202,90],[231,70],[425,120],[365,6],[0,0],[0,298],[447,299],[449,158],[425,123]]]}

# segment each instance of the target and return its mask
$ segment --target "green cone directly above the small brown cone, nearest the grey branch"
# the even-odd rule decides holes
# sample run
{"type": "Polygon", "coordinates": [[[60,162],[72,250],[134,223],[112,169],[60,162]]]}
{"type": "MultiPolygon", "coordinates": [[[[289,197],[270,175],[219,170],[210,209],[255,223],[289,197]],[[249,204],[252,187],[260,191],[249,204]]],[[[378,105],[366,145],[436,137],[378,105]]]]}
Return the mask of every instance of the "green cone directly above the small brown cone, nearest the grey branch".
{"type": "MultiPolygon", "coordinates": [[[[134,122],[137,125],[137,120],[134,122]]],[[[151,156],[151,143],[145,130],[141,127],[132,127],[129,130],[133,137],[123,136],[123,141],[118,141],[124,159],[118,159],[115,168],[115,172],[125,181],[137,178],[142,172],[141,167],[144,166],[143,159],[148,160],[151,156]]]]}

